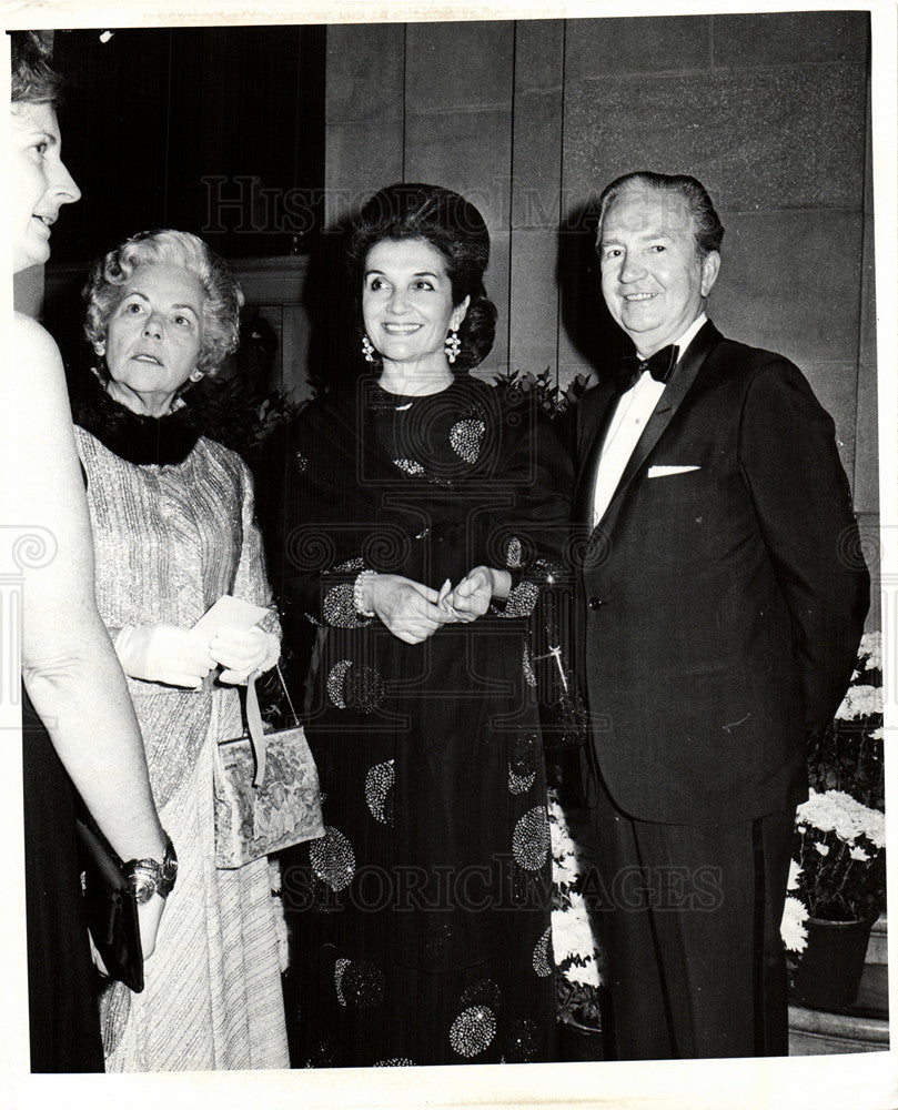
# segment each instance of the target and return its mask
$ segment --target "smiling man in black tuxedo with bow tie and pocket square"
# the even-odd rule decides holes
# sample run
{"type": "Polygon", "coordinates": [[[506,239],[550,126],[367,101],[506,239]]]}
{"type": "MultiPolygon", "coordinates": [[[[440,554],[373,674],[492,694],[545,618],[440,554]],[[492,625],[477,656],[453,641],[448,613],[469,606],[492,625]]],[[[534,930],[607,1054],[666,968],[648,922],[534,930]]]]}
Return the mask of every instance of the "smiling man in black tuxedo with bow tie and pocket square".
{"type": "Polygon", "coordinates": [[[724,229],[694,178],[601,200],[627,367],[581,404],[581,677],[622,1059],[788,1051],[779,921],[806,744],[869,605],[834,424],[705,305],[724,229]]]}

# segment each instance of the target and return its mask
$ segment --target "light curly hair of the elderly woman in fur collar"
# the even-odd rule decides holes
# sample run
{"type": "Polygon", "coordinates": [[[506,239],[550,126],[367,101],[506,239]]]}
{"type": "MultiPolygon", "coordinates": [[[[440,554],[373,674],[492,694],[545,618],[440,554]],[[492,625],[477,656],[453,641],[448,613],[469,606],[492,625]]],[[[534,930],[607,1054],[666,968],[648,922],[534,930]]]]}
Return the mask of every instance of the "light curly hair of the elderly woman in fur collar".
{"type": "Polygon", "coordinates": [[[188,231],[142,231],[93,264],[82,294],[88,342],[104,342],[122,286],[140,266],[157,262],[181,266],[202,285],[205,300],[196,369],[214,374],[238,347],[243,292],[219,255],[188,231]]]}

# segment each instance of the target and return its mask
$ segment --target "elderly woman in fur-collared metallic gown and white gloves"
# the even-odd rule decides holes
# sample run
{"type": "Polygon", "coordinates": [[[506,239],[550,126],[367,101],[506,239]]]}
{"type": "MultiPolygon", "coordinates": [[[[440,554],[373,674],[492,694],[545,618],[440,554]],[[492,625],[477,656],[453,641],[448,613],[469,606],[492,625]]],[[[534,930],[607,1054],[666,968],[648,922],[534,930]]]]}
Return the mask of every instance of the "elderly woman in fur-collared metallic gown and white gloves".
{"type": "Polygon", "coordinates": [[[182,396],[236,347],[243,294],[196,236],[157,231],[98,262],[84,301],[97,382],[75,431],[97,601],[180,859],[144,991],[101,998],[107,1070],[286,1067],[268,864],[216,869],[212,816],[214,746],[241,731],[234,685],[274,665],[280,626],[249,471],[182,396]],[[195,630],[225,594],[269,612],[250,632],[195,630]]]}

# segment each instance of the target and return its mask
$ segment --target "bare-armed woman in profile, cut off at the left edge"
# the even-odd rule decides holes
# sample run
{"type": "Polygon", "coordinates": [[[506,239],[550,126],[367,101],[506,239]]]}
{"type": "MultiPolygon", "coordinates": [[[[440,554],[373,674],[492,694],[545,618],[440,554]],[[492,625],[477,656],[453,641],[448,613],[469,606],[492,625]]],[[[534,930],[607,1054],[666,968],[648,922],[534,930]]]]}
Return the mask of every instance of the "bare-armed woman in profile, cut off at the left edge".
{"type": "MultiPolygon", "coordinates": [[[[80,193],[60,155],[59,78],[33,31],[11,39],[9,235],[13,271],[20,272],[48,260],[50,225],[80,193]]],[[[122,859],[161,861],[167,838],[125,680],[93,597],[90,522],[59,351],[39,324],[17,313],[10,353],[0,412],[4,440],[18,443],[22,457],[14,481],[4,483],[3,519],[22,522],[26,537],[20,565],[31,1069],[102,1071],[72,785],[122,859]],[[27,535],[36,538],[29,544],[27,535]]],[[[164,905],[153,894],[140,906],[147,958],[164,905]]]]}

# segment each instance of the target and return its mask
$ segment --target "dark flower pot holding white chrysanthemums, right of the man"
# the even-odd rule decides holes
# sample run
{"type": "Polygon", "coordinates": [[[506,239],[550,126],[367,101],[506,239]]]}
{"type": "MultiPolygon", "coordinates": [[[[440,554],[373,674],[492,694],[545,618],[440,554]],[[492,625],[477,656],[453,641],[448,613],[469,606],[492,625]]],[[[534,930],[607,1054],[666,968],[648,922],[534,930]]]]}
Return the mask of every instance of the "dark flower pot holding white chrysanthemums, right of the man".
{"type": "Polygon", "coordinates": [[[857,998],[875,918],[807,919],[808,944],[793,980],[793,1000],[815,1010],[846,1010],[857,998]]]}

